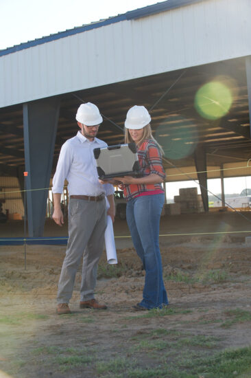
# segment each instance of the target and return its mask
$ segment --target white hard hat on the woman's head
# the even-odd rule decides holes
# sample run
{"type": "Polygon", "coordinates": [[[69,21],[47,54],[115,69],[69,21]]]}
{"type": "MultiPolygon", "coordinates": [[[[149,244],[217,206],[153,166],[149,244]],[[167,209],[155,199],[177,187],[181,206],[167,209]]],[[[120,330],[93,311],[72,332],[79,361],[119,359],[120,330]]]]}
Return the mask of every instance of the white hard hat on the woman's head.
{"type": "Polygon", "coordinates": [[[135,105],[128,110],[125,119],[126,129],[139,130],[151,122],[150,114],[145,107],[135,105]]]}

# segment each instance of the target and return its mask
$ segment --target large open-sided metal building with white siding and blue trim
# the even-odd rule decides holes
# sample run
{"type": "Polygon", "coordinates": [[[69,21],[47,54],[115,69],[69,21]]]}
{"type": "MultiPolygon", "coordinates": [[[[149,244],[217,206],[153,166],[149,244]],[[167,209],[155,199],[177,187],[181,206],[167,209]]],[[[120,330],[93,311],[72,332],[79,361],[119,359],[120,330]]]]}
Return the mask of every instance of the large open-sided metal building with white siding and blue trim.
{"type": "Polygon", "coordinates": [[[108,144],[123,140],[129,107],[144,104],[167,179],[193,172],[204,210],[206,179],[221,177],[215,168],[251,174],[243,168],[251,157],[250,14],[250,0],[169,0],[0,51],[0,187],[1,177],[18,177],[23,188],[29,172],[29,236],[43,235],[45,188],[82,101],[105,116],[99,137],[108,144]],[[228,103],[201,103],[204,92],[196,102],[215,82],[228,103]],[[205,115],[207,105],[222,114],[205,115]]]}

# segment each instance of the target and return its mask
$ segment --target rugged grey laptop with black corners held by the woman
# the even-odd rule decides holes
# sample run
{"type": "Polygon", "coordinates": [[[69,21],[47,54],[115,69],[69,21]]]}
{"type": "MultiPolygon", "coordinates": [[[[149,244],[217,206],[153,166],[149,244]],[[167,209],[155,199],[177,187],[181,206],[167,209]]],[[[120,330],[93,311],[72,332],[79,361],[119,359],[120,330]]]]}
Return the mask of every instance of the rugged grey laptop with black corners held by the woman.
{"type": "Polygon", "coordinates": [[[139,177],[141,175],[134,143],[94,148],[93,153],[99,179],[123,176],[139,177]]]}

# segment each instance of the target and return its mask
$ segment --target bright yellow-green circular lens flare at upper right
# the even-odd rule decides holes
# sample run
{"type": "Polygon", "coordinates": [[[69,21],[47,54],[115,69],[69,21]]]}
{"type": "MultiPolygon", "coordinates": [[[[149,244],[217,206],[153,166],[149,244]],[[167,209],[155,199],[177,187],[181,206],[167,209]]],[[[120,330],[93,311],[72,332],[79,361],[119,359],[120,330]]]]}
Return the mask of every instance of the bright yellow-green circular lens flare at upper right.
{"type": "Polygon", "coordinates": [[[207,82],[195,95],[195,109],[208,120],[224,117],[232,105],[229,87],[219,81],[207,82]]]}

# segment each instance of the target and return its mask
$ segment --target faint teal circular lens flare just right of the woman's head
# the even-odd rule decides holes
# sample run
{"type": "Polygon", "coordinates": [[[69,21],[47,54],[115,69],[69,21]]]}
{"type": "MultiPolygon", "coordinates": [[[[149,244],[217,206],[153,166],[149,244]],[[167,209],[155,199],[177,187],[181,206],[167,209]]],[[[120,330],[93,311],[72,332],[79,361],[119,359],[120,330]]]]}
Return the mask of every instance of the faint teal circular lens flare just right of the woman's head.
{"type": "Polygon", "coordinates": [[[169,117],[160,124],[154,137],[169,159],[189,157],[198,144],[195,124],[179,116],[169,117]]]}

